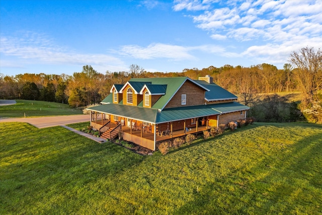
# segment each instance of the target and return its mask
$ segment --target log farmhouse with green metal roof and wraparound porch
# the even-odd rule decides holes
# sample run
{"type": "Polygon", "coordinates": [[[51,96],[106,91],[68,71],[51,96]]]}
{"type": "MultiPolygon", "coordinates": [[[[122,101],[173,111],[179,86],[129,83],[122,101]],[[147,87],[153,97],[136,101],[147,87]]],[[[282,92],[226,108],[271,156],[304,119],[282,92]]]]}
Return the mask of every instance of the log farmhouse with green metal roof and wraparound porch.
{"type": "Polygon", "coordinates": [[[102,105],[88,108],[91,125],[105,138],[121,132],[153,151],[159,142],[245,119],[249,110],[209,76],[131,79],[110,92],[102,105]]]}

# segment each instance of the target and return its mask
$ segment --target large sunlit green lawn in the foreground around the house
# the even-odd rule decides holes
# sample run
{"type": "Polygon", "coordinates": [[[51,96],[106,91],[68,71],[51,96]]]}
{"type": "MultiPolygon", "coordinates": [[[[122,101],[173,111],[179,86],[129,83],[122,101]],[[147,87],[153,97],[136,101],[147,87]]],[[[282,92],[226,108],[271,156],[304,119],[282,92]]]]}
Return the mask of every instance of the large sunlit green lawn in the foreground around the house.
{"type": "Polygon", "coordinates": [[[0,123],[0,214],[320,214],[321,128],[256,123],[143,157],[0,123]]]}

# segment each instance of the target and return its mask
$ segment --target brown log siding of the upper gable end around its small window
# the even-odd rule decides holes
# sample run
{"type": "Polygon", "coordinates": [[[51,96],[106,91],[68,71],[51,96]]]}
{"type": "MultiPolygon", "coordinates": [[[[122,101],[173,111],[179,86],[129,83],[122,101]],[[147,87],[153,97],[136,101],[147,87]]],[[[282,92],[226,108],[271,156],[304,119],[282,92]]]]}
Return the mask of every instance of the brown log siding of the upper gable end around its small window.
{"type": "Polygon", "coordinates": [[[165,108],[182,107],[182,106],[194,106],[205,104],[205,90],[199,86],[193,84],[190,81],[186,81],[178,92],[172,97],[165,108]],[[181,95],[186,94],[186,105],[181,104],[181,95]]]}

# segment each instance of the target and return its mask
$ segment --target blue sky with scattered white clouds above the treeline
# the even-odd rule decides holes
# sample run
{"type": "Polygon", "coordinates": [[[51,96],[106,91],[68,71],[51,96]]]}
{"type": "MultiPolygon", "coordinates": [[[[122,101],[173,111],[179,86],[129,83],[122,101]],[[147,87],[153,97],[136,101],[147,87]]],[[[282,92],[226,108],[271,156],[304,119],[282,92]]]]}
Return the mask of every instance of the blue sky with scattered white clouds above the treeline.
{"type": "Polygon", "coordinates": [[[0,73],[283,68],[322,47],[322,1],[0,0],[0,73]]]}

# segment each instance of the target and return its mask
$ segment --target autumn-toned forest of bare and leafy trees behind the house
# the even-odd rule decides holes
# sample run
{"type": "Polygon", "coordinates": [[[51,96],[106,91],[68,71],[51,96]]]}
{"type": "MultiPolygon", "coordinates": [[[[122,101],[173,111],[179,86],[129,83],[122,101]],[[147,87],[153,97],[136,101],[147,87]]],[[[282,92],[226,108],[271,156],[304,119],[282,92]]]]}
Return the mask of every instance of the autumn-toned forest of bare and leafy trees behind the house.
{"type": "Polygon", "coordinates": [[[177,73],[151,73],[132,64],[128,71],[107,70],[105,74],[98,73],[91,65],[84,65],[82,71],[71,76],[0,74],[0,99],[42,100],[84,107],[99,103],[109,95],[113,84],[124,84],[131,78],[187,76],[197,80],[205,75],[237,95],[239,102],[251,107],[249,114],[260,121],[322,122],[322,51],[313,47],[293,51],[283,69],[262,63],[249,67],[223,65],[185,68],[177,73]],[[290,101],[276,94],[280,92],[300,92],[301,101],[290,101]]]}

